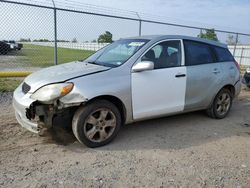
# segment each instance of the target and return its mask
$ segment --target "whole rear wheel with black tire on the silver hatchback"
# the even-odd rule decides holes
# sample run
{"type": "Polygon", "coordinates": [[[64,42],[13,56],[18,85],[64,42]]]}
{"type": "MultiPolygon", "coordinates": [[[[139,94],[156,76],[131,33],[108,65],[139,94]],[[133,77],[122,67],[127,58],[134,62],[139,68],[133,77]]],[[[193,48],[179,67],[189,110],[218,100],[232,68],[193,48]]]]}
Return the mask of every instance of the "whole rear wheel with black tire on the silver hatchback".
{"type": "Polygon", "coordinates": [[[225,118],[232,107],[232,100],[232,93],[228,89],[221,89],[207,109],[207,115],[214,119],[225,118]]]}

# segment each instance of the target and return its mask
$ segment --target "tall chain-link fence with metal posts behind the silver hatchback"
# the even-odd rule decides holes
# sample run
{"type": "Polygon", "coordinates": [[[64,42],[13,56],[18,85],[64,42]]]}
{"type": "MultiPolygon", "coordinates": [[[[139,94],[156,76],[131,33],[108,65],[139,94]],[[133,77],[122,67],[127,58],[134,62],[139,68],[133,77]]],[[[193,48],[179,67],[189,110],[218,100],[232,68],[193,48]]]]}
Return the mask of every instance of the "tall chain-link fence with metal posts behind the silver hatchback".
{"type": "MultiPolygon", "coordinates": [[[[152,34],[197,36],[209,29],[74,0],[0,0],[0,17],[0,77],[25,76],[84,59],[108,44],[98,40],[106,31],[118,40],[152,34]]],[[[231,53],[243,69],[250,66],[250,34],[217,28],[215,32],[222,42],[234,36],[231,53]]],[[[3,83],[6,80],[0,81],[0,88],[3,83]]]]}

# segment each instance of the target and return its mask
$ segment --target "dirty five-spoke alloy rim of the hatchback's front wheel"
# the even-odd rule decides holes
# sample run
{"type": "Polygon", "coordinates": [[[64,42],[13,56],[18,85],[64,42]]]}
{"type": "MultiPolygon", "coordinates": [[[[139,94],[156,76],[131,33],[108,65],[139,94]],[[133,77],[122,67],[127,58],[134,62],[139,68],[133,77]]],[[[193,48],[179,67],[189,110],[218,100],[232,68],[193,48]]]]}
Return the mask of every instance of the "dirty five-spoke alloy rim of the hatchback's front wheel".
{"type": "Polygon", "coordinates": [[[116,127],[116,117],[107,108],[92,112],[85,120],[84,134],[92,142],[103,142],[110,138],[116,127]]]}

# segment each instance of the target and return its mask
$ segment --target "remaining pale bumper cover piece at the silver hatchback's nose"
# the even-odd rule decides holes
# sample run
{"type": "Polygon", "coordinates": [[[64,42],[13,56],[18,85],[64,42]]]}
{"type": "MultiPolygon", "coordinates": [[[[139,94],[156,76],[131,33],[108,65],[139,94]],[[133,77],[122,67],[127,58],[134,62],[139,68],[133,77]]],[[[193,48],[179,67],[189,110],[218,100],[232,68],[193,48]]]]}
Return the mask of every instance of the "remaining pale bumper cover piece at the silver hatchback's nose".
{"type": "Polygon", "coordinates": [[[15,90],[13,96],[13,107],[18,123],[29,131],[38,133],[38,124],[30,121],[26,117],[26,108],[29,108],[33,102],[34,100],[30,98],[29,93],[24,94],[22,92],[21,85],[15,90]]]}

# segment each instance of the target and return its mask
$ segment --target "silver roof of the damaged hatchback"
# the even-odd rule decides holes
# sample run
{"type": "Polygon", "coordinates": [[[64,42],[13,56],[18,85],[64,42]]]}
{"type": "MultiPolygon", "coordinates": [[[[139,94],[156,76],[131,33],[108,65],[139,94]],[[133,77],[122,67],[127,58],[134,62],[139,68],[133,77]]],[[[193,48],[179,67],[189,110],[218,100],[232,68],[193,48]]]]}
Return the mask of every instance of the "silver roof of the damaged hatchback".
{"type": "Polygon", "coordinates": [[[155,41],[164,40],[164,39],[185,39],[185,40],[192,40],[192,41],[207,43],[207,44],[222,47],[222,48],[227,48],[227,45],[221,42],[203,39],[199,37],[184,36],[184,35],[145,35],[145,36],[129,37],[126,39],[147,39],[147,40],[155,40],[155,41]]]}

